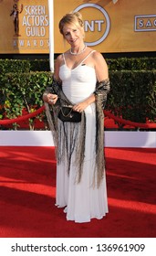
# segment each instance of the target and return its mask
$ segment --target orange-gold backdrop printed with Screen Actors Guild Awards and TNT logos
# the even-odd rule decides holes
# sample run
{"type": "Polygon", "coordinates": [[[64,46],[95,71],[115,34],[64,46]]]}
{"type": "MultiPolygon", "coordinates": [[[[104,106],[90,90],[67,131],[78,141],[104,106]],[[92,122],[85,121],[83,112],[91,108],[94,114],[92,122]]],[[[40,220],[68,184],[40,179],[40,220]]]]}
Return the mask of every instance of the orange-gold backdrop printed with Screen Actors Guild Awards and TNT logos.
{"type": "Polygon", "coordinates": [[[49,53],[54,13],[54,52],[65,51],[58,22],[71,11],[84,18],[86,44],[100,52],[156,50],[154,0],[0,0],[0,53],[49,53]],[[48,2],[54,3],[48,8],[48,2]],[[115,3],[116,2],[116,3],[115,3]]]}

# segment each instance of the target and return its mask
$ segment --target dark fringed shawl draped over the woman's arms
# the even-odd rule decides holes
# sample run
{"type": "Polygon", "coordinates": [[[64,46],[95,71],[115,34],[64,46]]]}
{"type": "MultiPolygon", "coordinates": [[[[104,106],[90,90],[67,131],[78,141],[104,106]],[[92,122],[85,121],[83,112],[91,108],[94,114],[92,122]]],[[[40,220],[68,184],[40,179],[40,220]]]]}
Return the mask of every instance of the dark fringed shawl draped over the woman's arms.
{"type": "MultiPolygon", "coordinates": [[[[104,161],[104,114],[103,109],[107,101],[107,94],[109,92],[109,80],[97,82],[95,97],[96,97],[96,165],[95,177],[93,184],[100,185],[100,181],[104,176],[105,161],[104,161]]],[[[48,87],[44,94],[57,94],[58,100],[55,105],[49,105],[45,102],[47,122],[52,132],[54,144],[56,147],[57,164],[64,162],[65,158],[68,160],[67,172],[69,174],[71,165],[71,156],[75,152],[77,159],[74,165],[77,166],[79,183],[82,176],[84,157],[85,157],[85,138],[86,138],[86,115],[82,112],[82,120],[80,123],[61,123],[57,120],[57,114],[62,105],[73,105],[68,101],[68,98],[63,93],[61,86],[53,79],[51,87],[48,87]],[[68,125],[69,131],[68,133],[68,125]],[[58,134],[59,133],[59,134],[58,134]]],[[[72,163],[73,164],[73,163],[72,163]]]]}

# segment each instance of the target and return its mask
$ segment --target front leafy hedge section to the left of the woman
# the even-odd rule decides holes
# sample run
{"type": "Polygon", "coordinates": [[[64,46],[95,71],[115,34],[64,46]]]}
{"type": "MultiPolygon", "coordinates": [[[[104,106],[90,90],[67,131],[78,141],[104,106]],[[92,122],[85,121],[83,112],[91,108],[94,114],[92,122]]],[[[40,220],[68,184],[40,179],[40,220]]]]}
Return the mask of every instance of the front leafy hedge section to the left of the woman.
{"type": "MultiPolygon", "coordinates": [[[[43,106],[42,94],[51,82],[51,72],[6,73],[1,77],[0,119],[14,119],[22,115],[24,110],[31,113],[43,106]]],[[[45,113],[37,118],[47,125],[45,113]]],[[[29,119],[30,130],[35,128],[35,120],[29,119]]],[[[13,126],[15,129],[20,128],[16,123],[13,126]]]]}

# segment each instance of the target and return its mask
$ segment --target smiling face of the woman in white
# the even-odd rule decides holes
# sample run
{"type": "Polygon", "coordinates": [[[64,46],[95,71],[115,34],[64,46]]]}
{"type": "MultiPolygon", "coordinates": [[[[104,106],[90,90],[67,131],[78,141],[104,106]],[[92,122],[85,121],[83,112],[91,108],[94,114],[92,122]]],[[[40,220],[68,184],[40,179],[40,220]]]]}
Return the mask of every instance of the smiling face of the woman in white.
{"type": "Polygon", "coordinates": [[[76,47],[83,42],[83,31],[81,27],[64,26],[63,35],[71,47],[76,47]]]}

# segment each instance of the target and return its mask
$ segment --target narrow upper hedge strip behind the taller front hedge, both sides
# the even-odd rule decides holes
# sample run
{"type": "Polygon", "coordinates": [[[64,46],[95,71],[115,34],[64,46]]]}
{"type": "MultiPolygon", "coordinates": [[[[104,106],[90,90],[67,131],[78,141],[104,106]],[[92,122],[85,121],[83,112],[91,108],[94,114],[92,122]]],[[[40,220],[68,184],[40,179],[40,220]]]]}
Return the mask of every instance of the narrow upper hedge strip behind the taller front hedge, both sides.
{"type": "MultiPolygon", "coordinates": [[[[109,70],[153,70],[156,58],[106,59],[109,70]]],[[[49,59],[0,59],[0,73],[50,71],[49,59]]]]}

